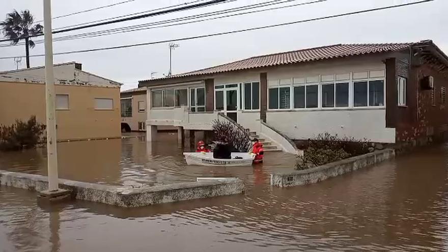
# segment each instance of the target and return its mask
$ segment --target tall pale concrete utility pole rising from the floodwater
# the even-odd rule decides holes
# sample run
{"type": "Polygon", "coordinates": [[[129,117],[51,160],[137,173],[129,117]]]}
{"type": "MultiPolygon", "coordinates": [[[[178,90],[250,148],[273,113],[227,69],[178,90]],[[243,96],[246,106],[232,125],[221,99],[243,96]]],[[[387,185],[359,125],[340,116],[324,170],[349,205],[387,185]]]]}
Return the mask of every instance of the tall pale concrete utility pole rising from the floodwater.
{"type": "Polygon", "coordinates": [[[48,190],[58,190],[58,152],[54,110],[53,35],[51,34],[51,0],[44,1],[45,96],[47,118],[48,190]]]}

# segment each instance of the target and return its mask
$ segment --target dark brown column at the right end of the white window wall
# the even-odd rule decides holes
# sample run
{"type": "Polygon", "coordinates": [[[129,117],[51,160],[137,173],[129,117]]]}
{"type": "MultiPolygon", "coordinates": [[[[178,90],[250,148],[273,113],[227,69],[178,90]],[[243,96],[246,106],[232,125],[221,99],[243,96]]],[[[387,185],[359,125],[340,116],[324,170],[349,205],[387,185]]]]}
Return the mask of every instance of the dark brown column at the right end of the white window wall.
{"type": "Polygon", "coordinates": [[[386,59],[386,128],[397,126],[397,68],[396,58],[386,59]]]}

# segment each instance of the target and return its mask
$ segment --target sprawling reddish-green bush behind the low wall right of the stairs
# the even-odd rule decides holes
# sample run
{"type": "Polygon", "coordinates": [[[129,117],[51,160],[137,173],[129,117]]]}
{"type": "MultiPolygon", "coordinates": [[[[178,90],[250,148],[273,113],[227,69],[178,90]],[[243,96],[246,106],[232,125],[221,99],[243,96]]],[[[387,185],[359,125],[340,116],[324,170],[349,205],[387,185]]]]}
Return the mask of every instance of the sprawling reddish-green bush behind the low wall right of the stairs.
{"type": "Polygon", "coordinates": [[[306,170],[368,152],[367,139],[358,140],[354,137],[339,137],[338,134],[321,133],[308,139],[303,156],[298,157],[296,169],[306,170]]]}

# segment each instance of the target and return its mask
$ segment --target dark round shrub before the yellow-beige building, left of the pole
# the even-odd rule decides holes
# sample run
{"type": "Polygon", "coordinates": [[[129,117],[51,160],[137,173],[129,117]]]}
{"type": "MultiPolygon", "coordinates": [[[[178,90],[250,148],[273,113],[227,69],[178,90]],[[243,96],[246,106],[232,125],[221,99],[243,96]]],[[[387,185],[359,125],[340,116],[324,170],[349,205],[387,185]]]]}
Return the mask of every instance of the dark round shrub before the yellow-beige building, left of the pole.
{"type": "Polygon", "coordinates": [[[36,116],[27,122],[16,120],[10,126],[0,125],[0,150],[16,151],[35,148],[42,140],[45,125],[38,123],[36,116]]]}

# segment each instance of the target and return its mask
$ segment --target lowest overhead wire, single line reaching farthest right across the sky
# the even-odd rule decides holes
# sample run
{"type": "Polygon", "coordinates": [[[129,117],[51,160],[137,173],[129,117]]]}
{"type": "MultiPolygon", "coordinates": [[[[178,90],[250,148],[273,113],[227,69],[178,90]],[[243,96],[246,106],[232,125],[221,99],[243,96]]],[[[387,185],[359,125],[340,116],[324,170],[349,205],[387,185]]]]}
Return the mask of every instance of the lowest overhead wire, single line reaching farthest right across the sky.
{"type": "MultiPolygon", "coordinates": [[[[367,9],[367,10],[354,11],[354,12],[347,12],[347,13],[331,15],[331,16],[324,16],[324,17],[304,19],[304,20],[298,20],[298,21],[292,21],[292,22],[286,22],[286,23],[278,23],[278,24],[271,24],[271,25],[252,27],[252,28],[248,28],[248,29],[241,29],[241,30],[229,31],[229,32],[221,32],[221,33],[214,33],[214,34],[207,34],[207,35],[184,37],[184,38],[178,38],[178,39],[169,39],[169,40],[161,40],[161,41],[154,41],[154,42],[147,42],[147,43],[130,44],[130,45],[93,48],[93,49],[85,49],[85,50],[77,50],[77,51],[65,51],[65,52],[57,52],[57,53],[53,53],[53,54],[54,55],[63,55],[63,54],[71,54],[71,53],[92,52],[92,51],[101,51],[101,50],[113,50],[113,49],[129,48],[129,47],[136,47],[136,46],[144,46],[144,45],[153,45],[153,44],[175,42],[175,41],[200,39],[200,38],[214,37],[214,36],[220,36],[220,35],[228,35],[228,34],[234,34],[234,33],[256,31],[256,30],[268,29],[268,28],[279,27],[279,26],[286,26],[286,25],[297,24],[297,23],[305,23],[305,22],[311,22],[311,21],[317,21],[317,20],[324,20],[324,19],[330,19],[330,18],[350,16],[350,15],[356,15],[356,14],[362,14],[362,13],[368,13],[368,12],[375,12],[375,11],[381,11],[381,10],[387,10],[387,9],[394,9],[394,8],[399,8],[399,7],[405,7],[405,6],[411,6],[411,5],[428,3],[428,2],[432,2],[432,1],[434,1],[434,0],[422,0],[422,1],[419,1],[419,2],[407,3],[407,4],[401,4],[401,5],[385,6],[385,7],[379,7],[379,8],[374,8],[374,9],[367,9]]],[[[43,57],[43,56],[45,56],[45,54],[30,55],[30,57],[43,57]]],[[[0,57],[0,60],[13,59],[15,57],[20,57],[20,56],[0,57]]],[[[22,56],[22,57],[24,57],[24,56],[22,56]]]]}

